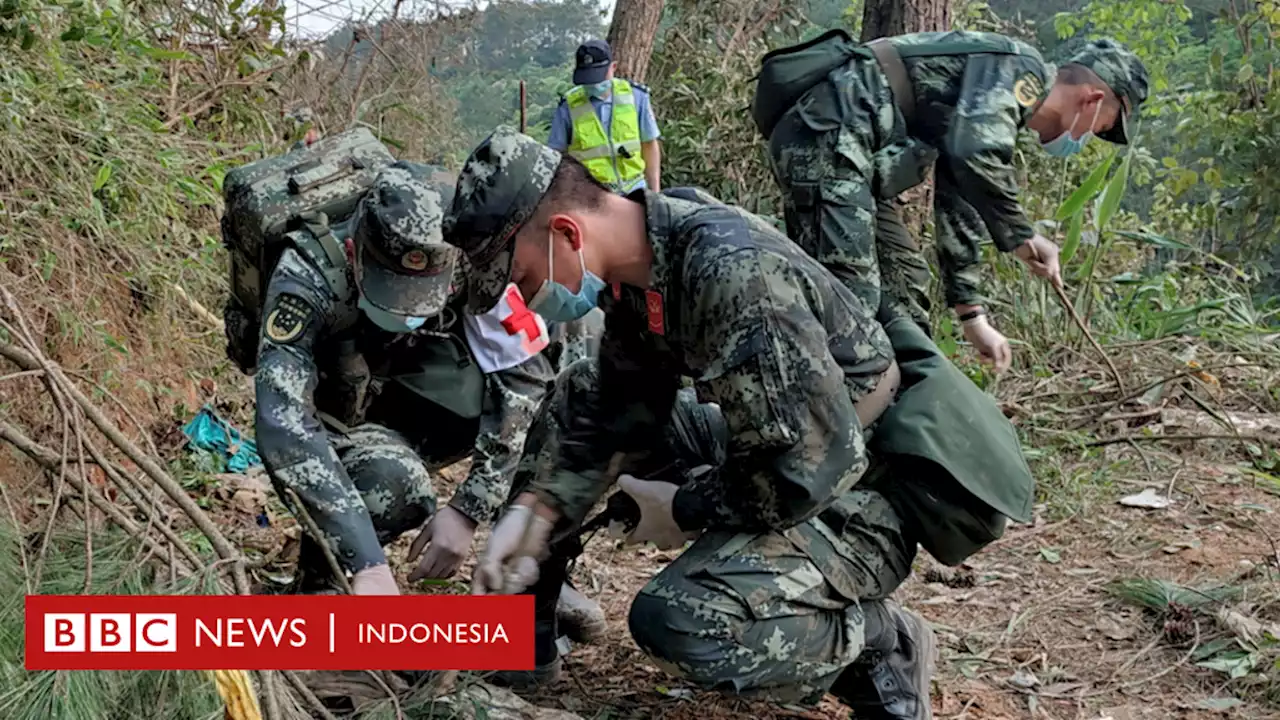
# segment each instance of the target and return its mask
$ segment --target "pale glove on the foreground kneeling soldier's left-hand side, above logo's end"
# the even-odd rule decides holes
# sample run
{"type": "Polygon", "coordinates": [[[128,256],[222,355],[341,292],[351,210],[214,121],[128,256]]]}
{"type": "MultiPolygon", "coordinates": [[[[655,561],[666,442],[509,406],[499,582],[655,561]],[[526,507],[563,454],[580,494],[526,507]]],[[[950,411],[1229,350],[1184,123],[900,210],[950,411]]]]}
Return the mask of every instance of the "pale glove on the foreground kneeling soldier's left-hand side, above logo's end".
{"type": "Polygon", "coordinates": [[[503,514],[471,579],[472,594],[513,594],[538,582],[538,562],[548,555],[553,521],[527,505],[503,514]]]}

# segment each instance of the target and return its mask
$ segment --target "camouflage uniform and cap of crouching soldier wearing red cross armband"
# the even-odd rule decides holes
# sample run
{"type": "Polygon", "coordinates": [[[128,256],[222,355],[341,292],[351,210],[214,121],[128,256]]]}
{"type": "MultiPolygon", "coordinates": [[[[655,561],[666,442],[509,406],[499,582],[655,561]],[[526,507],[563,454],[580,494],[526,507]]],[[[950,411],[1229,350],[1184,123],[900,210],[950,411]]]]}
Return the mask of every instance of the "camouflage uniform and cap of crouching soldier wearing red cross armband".
{"type": "MultiPolygon", "coordinates": [[[[387,561],[383,546],[436,509],[430,471],[467,455],[470,475],[449,505],[477,523],[490,519],[552,379],[541,354],[486,374],[474,383],[479,411],[468,416],[396,379],[438,357],[440,347],[460,360],[470,356],[466,283],[458,282],[466,269],[456,269],[457,251],[440,242],[452,196],[440,177],[411,163],[379,174],[351,220],[347,297],[326,282],[324,258],[296,249],[284,251],[268,288],[256,374],[259,450],[282,497],[289,502],[285,488],[297,493],[351,573],[387,561]],[[392,333],[367,319],[357,307],[352,252],[360,252],[366,299],[429,318],[421,329],[392,333]],[[388,269],[387,259],[403,259],[398,264],[410,272],[388,269]]],[[[308,542],[300,566],[307,583],[329,577],[308,542]]]]}

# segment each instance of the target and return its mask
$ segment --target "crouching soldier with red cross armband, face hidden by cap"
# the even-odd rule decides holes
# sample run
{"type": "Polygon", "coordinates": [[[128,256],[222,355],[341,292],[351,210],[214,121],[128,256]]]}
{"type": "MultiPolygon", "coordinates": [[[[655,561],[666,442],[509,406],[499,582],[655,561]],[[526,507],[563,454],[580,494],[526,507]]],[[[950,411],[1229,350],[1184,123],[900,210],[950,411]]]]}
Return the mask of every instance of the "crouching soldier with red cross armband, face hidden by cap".
{"type": "MultiPolygon", "coordinates": [[[[296,493],[357,594],[398,594],[383,546],[426,525],[410,579],[448,578],[479,523],[507,496],[535,409],[553,378],[547,328],[518,296],[460,313],[467,270],[440,238],[452,179],[399,161],[379,173],[351,223],[346,258],[283,252],[260,342],[257,442],[291,509],[296,493]],[[340,266],[333,266],[333,264],[340,266]],[[339,296],[330,277],[351,291],[339,296]],[[430,471],[472,457],[436,509],[430,471]],[[429,550],[422,553],[429,544],[429,550]]],[[[333,582],[303,536],[302,592],[333,582]]],[[[577,601],[580,639],[603,629],[577,601]],[[593,625],[594,623],[594,625],[593,625]]]]}

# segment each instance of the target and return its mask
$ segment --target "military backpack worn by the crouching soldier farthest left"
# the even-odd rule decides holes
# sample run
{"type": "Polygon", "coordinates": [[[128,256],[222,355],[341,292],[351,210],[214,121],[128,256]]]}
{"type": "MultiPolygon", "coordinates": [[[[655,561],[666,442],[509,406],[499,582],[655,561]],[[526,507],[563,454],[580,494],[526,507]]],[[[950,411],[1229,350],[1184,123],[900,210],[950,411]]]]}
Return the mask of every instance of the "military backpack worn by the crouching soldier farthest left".
{"type": "Polygon", "coordinates": [[[330,290],[346,297],[347,220],[378,172],[394,161],[374,133],[357,127],[227,173],[221,229],[230,297],[223,320],[227,355],[241,372],[257,369],[266,286],[287,247],[325,269],[330,290]]]}

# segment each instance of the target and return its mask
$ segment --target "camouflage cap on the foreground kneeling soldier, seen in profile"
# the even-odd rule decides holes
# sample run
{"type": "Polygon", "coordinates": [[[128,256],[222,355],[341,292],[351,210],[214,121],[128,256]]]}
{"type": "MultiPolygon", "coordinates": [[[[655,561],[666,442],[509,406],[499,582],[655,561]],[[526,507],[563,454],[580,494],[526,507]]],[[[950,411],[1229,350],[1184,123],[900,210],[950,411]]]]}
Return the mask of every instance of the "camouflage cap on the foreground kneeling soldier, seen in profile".
{"type": "Polygon", "coordinates": [[[561,154],[509,126],[499,126],[467,158],[444,222],[445,242],[471,263],[467,306],[493,307],[511,282],[512,243],[547,188],[561,154]]]}

